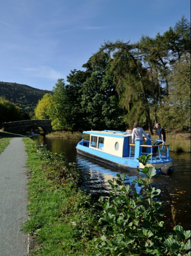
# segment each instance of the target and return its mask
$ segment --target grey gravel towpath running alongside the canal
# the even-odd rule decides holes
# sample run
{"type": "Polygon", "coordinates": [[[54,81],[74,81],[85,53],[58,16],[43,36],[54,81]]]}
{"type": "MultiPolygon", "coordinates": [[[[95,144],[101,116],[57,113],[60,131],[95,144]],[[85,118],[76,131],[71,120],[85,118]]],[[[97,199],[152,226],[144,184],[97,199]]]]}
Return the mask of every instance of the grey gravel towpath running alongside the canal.
{"type": "Polygon", "coordinates": [[[19,136],[0,154],[0,256],[27,255],[28,235],[20,230],[27,219],[26,158],[19,136]]]}

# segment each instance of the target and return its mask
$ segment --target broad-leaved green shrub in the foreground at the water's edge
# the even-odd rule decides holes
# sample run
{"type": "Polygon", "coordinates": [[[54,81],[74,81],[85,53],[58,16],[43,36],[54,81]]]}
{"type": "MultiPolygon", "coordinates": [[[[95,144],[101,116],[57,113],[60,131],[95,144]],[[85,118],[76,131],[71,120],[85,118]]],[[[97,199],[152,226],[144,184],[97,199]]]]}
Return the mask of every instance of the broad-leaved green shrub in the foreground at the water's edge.
{"type": "Polygon", "coordinates": [[[164,216],[161,202],[156,200],[160,189],[151,187],[149,182],[156,174],[153,167],[147,167],[148,158],[138,158],[145,166],[141,171],[146,179],[134,179],[133,182],[145,186],[144,197],[133,192],[125,185],[125,174],[117,174],[117,178],[109,180],[113,189],[110,198],[100,197],[99,222],[105,224],[102,236],[95,239],[96,255],[190,255],[190,230],[175,226],[173,233],[165,232],[164,216]]]}

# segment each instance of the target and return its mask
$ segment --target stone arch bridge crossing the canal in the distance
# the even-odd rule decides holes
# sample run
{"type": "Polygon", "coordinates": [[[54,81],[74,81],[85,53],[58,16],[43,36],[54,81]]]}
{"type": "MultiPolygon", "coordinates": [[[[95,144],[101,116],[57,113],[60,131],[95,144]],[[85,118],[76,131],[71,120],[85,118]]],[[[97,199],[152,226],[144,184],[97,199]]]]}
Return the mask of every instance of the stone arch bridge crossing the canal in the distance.
{"type": "Polygon", "coordinates": [[[52,132],[51,121],[52,120],[23,120],[4,123],[4,131],[26,135],[27,131],[41,127],[45,136],[47,133],[52,132]]]}

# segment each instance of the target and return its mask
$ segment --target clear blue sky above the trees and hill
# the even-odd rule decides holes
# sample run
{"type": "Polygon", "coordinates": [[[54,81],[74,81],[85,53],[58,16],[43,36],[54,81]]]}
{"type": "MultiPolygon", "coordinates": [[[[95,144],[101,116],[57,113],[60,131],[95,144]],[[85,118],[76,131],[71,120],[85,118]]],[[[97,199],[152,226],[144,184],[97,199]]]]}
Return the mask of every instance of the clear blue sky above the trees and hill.
{"type": "Polygon", "coordinates": [[[0,13],[0,81],[52,90],[104,41],[133,43],[190,21],[190,0],[0,0],[0,13]]]}

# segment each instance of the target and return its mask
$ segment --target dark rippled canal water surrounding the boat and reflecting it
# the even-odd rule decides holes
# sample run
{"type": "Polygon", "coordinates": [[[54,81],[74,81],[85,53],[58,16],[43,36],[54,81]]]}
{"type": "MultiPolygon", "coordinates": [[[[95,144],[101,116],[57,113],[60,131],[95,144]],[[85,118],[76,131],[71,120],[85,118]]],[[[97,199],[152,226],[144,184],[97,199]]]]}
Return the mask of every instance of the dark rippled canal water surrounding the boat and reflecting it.
{"type": "MultiPolygon", "coordinates": [[[[78,155],[76,145],[78,140],[50,138],[43,136],[33,136],[39,142],[47,146],[53,153],[62,153],[69,162],[76,162],[77,167],[82,170],[84,182],[81,189],[92,194],[93,200],[99,196],[108,196],[111,191],[108,179],[116,177],[116,174],[122,174],[124,171],[112,168],[111,166],[101,164],[78,155]]],[[[152,185],[160,188],[161,194],[159,200],[162,202],[165,210],[165,221],[172,222],[171,208],[176,210],[176,225],[182,225],[186,230],[190,229],[190,154],[170,152],[173,158],[173,173],[171,175],[157,174],[152,177],[152,185]]],[[[135,178],[142,178],[144,174],[125,172],[125,183],[130,184],[132,190],[140,192],[143,187],[137,183],[132,183],[135,178]]],[[[169,225],[169,224],[168,224],[169,225]]]]}

